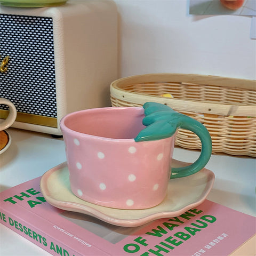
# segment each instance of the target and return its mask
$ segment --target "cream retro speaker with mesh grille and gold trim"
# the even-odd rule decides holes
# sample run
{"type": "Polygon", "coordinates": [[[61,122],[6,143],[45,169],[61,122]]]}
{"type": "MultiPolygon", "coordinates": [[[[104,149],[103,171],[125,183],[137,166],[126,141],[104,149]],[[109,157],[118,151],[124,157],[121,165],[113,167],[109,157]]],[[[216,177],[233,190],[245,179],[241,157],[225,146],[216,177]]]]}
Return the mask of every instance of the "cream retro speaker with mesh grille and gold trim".
{"type": "MultiPolygon", "coordinates": [[[[18,110],[12,127],[61,135],[64,115],[110,106],[109,85],[117,78],[115,3],[0,5],[0,55],[0,97],[18,110]]],[[[1,118],[8,112],[0,106],[1,118]]]]}

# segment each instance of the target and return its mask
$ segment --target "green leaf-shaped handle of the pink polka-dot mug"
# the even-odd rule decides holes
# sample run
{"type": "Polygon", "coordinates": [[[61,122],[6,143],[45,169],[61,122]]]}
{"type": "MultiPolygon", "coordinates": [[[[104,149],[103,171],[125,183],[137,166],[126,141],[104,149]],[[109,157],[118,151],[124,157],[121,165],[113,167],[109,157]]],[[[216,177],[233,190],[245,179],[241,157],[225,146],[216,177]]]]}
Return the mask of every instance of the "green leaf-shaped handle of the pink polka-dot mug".
{"type": "Polygon", "coordinates": [[[206,127],[195,119],[182,115],[172,108],[156,102],[147,102],[143,105],[145,118],[143,125],[147,126],[141,130],[135,141],[160,140],[171,137],[178,128],[194,132],[202,143],[201,154],[191,165],[172,168],[171,179],[186,177],[204,168],[212,154],[212,140],[206,127]]]}

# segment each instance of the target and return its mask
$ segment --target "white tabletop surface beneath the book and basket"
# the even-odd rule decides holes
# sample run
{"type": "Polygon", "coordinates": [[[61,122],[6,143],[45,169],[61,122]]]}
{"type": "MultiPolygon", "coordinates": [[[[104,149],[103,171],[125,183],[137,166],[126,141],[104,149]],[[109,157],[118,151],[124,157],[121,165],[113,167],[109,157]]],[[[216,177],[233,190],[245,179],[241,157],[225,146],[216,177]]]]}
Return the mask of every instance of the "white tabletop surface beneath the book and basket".
{"type": "MultiPolygon", "coordinates": [[[[65,162],[63,139],[49,134],[8,129],[12,143],[0,155],[0,191],[41,176],[52,167],[65,162]]],[[[173,157],[183,162],[194,162],[198,150],[175,148],[173,157]]],[[[255,186],[256,159],[224,154],[212,155],[206,168],[215,174],[215,183],[207,199],[237,211],[256,216],[255,186]]],[[[0,225],[0,255],[51,255],[0,225]]]]}

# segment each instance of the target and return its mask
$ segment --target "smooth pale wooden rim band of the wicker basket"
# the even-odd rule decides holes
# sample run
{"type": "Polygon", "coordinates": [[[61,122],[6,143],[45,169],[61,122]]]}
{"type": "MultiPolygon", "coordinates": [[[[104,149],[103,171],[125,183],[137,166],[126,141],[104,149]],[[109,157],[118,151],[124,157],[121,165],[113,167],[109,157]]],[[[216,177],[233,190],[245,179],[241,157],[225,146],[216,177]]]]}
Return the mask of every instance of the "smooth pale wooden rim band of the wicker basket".
{"type": "Polygon", "coordinates": [[[119,78],[110,84],[110,94],[111,94],[111,97],[117,98],[118,100],[137,103],[139,105],[143,105],[143,103],[148,101],[155,101],[158,103],[165,104],[173,108],[174,110],[179,110],[179,111],[194,111],[196,113],[207,113],[207,114],[222,115],[222,116],[254,117],[256,115],[256,106],[253,106],[253,105],[238,105],[238,104],[231,105],[231,104],[215,103],[210,101],[198,102],[194,100],[172,99],[172,98],[165,98],[161,96],[154,96],[150,94],[130,92],[122,89],[122,86],[129,85],[129,84],[147,83],[147,82],[148,83],[149,82],[166,82],[166,79],[170,79],[170,78],[172,78],[171,82],[181,82],[182,80],[182,82],[186,82],[186,83],[198,84],[199,82],[202,84],[206,83],[207,85],[220,85],[220,86],[227,86],[227,87],[234,87],[234,88],[241,88],[241,89],[256,91],[256,88],[255,88],[256,81],[252,81],[252,80],[217,77],[217,76],[205,76],[205,75],[159,73],[159,74],[145,74],[145,75],[136,75],[136,76],[119,78]],[[173,81],[173,79],[175,79],[175,81],[173,81]],[[230,80],[232,80],[232,85],[230,85],[230,80]]]}

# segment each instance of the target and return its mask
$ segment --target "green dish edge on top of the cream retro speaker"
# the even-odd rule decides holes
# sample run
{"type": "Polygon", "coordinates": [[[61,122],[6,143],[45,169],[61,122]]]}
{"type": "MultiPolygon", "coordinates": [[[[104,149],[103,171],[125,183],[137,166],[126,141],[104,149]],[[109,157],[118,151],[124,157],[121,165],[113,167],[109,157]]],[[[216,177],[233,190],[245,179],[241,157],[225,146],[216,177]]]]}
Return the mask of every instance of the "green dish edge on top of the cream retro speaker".
{"type": "Polygon", "coordinates": [[[9,7],[50,7],[66,2],[67,0],[0,0],[0,4],[9,7]]]}

